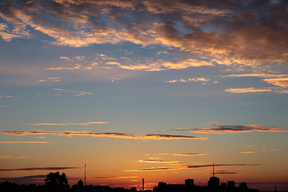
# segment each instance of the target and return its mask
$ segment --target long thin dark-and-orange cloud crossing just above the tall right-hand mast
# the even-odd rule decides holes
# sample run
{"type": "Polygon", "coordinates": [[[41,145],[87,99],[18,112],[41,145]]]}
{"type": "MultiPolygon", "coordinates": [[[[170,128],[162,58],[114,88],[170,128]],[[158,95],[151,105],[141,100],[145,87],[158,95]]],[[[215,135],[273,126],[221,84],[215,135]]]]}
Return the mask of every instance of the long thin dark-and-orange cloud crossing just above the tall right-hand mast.
{"type": "MultiPolygon", "coordinates": [[[[214,165],[214,167],[238,167],[238,166],[261,166],[261,164],[219,164],[214,165]]],[[[206,168],[213,167],[213,164],[210,165],[190,165],[184,164],[175,167],[158,167],[158,168],[147,168],[139,170],[124,170],[124,171],[162,171],[162,170],[183,170],[183,169],[196,169],[196,168],[206,168]]]]}

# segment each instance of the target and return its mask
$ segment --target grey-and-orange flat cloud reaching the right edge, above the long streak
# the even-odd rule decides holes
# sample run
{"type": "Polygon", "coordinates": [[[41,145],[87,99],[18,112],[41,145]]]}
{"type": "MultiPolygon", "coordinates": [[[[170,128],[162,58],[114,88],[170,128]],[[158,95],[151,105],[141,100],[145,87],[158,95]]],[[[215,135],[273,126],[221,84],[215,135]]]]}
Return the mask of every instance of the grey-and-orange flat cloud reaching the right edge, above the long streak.
{"type": "MultiPolygon", "coordinates": [[[[212,124],[213,125],[213,124],[212,124]]],[[[174,129],[176,131],[191,131],[192,133],[243,133],[243,132],[285,132],[288,129],[274,127],[274,126],[261,126],[261,125],[223,125],[216,124],[217,128],[199,128],[199,129],[174,129]]]]}

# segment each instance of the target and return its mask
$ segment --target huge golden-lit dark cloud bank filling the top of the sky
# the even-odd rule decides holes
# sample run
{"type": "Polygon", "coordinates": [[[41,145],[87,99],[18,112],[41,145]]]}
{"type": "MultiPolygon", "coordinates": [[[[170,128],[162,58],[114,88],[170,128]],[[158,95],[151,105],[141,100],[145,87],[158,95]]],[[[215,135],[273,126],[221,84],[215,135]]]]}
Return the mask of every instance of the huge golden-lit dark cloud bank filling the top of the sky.
{"type": "MultiPolygon", "coordinates": [[[[250,10],[241,1],[237,6],[230,1],[199,4],[194,1],[163,0],[54,0],[45,6],[38,1],[29,1],[29,4],[20,2],[17,6],[10,1],[2,5],[1,17],[5,23],[0,24],[0,36],[4,41],[33,38],[33,31],[38,31],[53,39],[50,44],[58,46],[84,47],[131,42],[141,46],[176,47],[179,52],[193,53],[195,56],[158,64],[123,65],[117,61],[116,65],[124,69],[184,69],[215,64],[271,67],[274,65],[270,64],[288,61],[287,29],[278,25],[283,22],[283,15],[286,16],[280,3],[271,6],[266,2],[250,10]],[[268,20],[262,10],[274,17],[268,20]],[[119,14],[115,14],[116,11],[119,14]],[[167,14],[171,16],[169,22],[167,14]],[[146,15],[157,16],[158,19],[143,19],[146,15]],[[266,24],[262,25],[264,21],[266,24]]],[[[99,54],[99,57],[107,59],[104,54],[99,54]]],[[[85,56],[73,58],[82,61],[85,56]]],[[[60,59],[71,60],[65,55],[60,59]]]]}

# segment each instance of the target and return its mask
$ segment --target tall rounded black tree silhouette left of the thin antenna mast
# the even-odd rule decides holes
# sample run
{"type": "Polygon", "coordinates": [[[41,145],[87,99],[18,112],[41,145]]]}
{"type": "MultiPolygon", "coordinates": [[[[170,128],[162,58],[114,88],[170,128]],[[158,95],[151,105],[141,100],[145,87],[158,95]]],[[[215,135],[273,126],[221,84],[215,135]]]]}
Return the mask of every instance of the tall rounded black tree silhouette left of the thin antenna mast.
{"type": "Polygon", "coordinates": [[[44,181],[48,191],[66,191],[70,187],[65,173],[60,175],[59,171],[56,173],[49,173],[44,181]]]}

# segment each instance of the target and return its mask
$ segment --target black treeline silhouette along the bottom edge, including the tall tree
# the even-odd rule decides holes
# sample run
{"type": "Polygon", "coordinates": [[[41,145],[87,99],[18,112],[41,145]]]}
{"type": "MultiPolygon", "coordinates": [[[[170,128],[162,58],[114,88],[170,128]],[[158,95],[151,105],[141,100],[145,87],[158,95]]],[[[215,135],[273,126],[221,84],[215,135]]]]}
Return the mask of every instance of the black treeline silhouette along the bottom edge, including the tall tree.
{"type": "MultiPolygon", "coordinates": [[[[190,180],[190,179],[188,179],[190,180]]],[[[1,192],[85,192],[85,191],[103,191],[103,192],[260,192],[258,189],[249,189],[246,185],[231,187],[226,183],[221,183],[218,187],[208,187],[206,185],[194,184],[167,184],[160,182],[153,187],[153,190],[137,190],[136,187],[125,189],[124,187],[110,188],[109,186],[83,185],[80,179],[77,184],[70,187],[65,173],[49,173],[44,180],[45,184],[16,184],[11,182],[0,183],[1,192]]],[[[186,182],[186,181],[185,181],[186,182]]],[[[245,183],[246,184],[246,183],[245,183]]],[[[274,191],[276,192],[276,191],[274,191]]],[[[280,191],[279,191],[280,192],[280,191]]],[[[285,191],[281,191],[285,192],[285,191]]],[[[287,191],[288,192],[288,191],[287,191]]]]}

